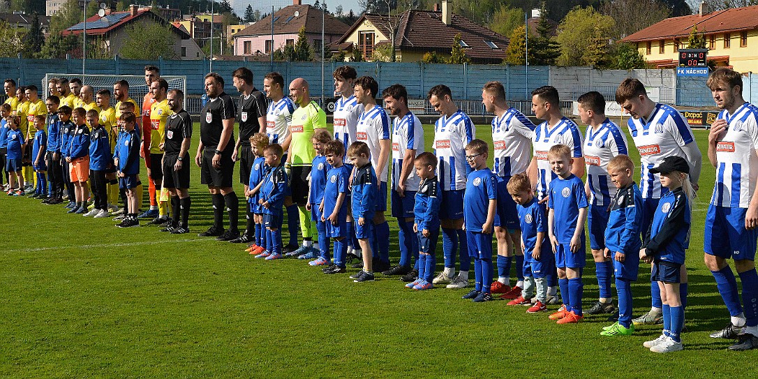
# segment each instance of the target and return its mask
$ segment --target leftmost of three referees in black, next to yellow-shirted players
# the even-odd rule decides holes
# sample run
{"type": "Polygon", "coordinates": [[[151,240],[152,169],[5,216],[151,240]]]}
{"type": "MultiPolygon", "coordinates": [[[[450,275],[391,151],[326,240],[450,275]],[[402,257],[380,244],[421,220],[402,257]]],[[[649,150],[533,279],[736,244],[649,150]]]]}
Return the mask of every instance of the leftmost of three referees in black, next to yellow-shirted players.
{"type": "Polygon", "coordinates": [[[168,108],[174,114],[166,120],[163,143],[163,186],[171,195],[171,225],[161,231],[173,234],[189,232],[189,143],[192,137],[192,119],[184,110],[184,92],[168,92],[168,108]]]}

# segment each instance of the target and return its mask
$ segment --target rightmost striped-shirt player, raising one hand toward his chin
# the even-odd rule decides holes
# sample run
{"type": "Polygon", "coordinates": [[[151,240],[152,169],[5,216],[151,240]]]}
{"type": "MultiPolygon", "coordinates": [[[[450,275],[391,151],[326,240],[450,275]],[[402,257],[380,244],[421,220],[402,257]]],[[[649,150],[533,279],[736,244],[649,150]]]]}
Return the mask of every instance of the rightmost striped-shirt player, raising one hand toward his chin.
{"type": "Polygon", "coordinates": [[[758,347],[758,274],[755,269],[758,240],[758,107],[742,98],[742,77],[719,68],[707,82],[716,105],[722,109],[708,135],[708,159],[716,168],[716,186],[708,205],[703,251],[706,267],[716,279],[731,320],[713,338],[737,338],[732,350],[758,347]],[[740,304],[734,258],[742,281],[740,304]],[[744,334],[740,334],[744,327],[744,334]]]}

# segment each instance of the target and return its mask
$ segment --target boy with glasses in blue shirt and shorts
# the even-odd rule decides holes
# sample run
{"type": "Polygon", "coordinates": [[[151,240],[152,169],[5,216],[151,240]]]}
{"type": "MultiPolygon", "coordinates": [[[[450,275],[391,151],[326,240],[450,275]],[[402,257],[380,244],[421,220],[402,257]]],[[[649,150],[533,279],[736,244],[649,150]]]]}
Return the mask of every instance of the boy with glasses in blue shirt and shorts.
{"type": "Polygon", "coordinates": [[[463,218],[468,241],[468,255],[474,256],[474,290],[463,299],[473,302],[487,302],[492,299],[492,233],[497,208],[497,178],[487,168],[490,147],[481,139],[474,139],[466,145],[466,161],[474,169],[466,177],[466,191],[463,196],[463,218]]]}

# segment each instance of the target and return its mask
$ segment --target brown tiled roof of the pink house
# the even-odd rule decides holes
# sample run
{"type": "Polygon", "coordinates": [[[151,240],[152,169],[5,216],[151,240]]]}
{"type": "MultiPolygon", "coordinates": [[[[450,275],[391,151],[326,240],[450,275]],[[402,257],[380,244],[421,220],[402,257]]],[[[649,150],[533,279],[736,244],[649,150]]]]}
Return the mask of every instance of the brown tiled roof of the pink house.
{"type": "MultiPolygon", "coordinates": [[[[299,33],[305,27],[305,33],[321,34],[321,10],[310,5],[290,5],[274,12],[274,34],[299,33]],[[295,13],[297,12],[297,16],[295,13]]],[[[331,14],[324,15],[324,33],[342,36],[349,26],[337,20],[331,14]]],[[[271,15],[264,17],[249,27],[240,30],[235,37],[262,36],[271,34],[271,15]]]]}

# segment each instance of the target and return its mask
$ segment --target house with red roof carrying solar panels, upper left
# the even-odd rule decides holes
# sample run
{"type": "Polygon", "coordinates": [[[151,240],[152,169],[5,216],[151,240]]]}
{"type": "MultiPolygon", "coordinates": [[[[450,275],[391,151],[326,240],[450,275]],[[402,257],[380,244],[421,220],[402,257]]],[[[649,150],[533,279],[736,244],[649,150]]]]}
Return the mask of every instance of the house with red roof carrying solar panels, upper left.
{"type": "MultiPolygon", "coordinates": [[[[129,11],[110,12],[106,11],[105,17],[98,15],[89,17],[86,20],[87,39],[101,38],[109,54],[117,55],[121,51],[124,41],[129,38],[127,27],[134,23],[160,23],[161,25],[171,25],[163,17],[158,16],[150,11],[150,8],[139,8],[137,5],[130,5],[129,11]]],[[[61,32],[64,36],[74,35],[81,36],[84,30],[84,23],[77,23],[73,27],[61,32]]],[[[177,57],[183,60],[200,59],[205,57],[200,47],[192,39],[186,30],[172,27],[174,32],[174,52],[177,57]]],[[[156,57],[157,58],[157,57],[156,57]]]]}

